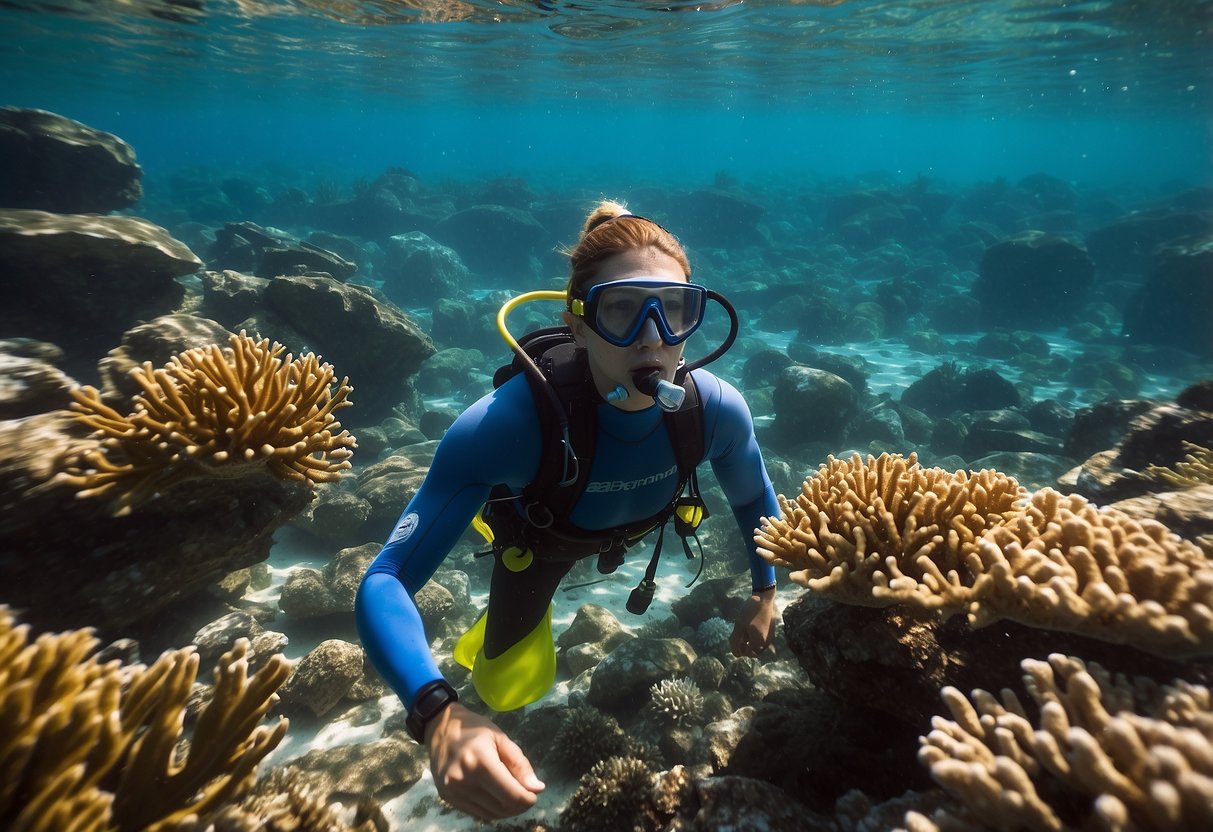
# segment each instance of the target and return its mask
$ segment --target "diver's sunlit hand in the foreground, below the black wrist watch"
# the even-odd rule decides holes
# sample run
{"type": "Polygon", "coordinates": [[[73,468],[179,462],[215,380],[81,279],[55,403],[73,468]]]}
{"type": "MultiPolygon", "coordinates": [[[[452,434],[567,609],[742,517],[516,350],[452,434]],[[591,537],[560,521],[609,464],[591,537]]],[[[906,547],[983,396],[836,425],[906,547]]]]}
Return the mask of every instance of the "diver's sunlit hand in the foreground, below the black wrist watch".
{"type": "Polygon", "coordinates": [[[543,791],[522,748],[490,719],[459,702],[426,725],[426,746],[438,794],[480,820],[526,811],[543,791]]]}

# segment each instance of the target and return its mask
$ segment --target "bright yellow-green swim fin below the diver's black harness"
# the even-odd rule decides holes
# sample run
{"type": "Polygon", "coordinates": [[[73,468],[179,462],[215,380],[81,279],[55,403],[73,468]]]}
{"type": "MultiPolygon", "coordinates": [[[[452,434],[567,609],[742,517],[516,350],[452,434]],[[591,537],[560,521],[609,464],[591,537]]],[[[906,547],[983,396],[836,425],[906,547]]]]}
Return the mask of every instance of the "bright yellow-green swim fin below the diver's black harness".
{"type": "Polygon", "coordinates": [[[552,604],[535,628],[500,656],[484,655],[485,610],[455,645],[455,661],[472,671],[472,684],[494,711],[513,711],[543,697],[556,683],[552,604]]]}

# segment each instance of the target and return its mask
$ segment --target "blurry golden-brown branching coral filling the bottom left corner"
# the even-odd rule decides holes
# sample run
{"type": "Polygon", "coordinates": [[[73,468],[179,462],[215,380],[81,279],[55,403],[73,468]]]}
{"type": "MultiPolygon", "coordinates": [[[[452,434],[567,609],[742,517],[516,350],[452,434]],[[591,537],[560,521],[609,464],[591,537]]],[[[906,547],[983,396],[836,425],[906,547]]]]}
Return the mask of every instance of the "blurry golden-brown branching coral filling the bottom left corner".
{"type": "Polygon", "coordinates": [[[286,733],[258,723],[290,673],[274,656],[249,677],[249,642],[216,667],[186,751],[198,674],[192,649],[150,667],[101,663],[89,631],[40,636],[0,608],[0,826],[167,830],[206,817],[254,783],[286,733]]]}

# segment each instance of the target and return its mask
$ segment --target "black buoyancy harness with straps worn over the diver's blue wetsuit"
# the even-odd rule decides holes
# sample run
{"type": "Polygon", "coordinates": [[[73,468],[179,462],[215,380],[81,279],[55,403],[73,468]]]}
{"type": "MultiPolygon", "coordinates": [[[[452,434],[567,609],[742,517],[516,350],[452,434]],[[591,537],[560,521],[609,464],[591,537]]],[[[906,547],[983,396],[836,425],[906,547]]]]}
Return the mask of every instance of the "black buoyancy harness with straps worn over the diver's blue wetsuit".
{"type": "MultiPolygon", "coordinates": [[[[530,375],[526,376],[542,437],[539,472],[520,495],[511,494],[505,485],[495,486],[477,517],[477,529],[490,540],[490,552],[501,557],[508,569],[520,571],[534,557],[580,560],[597,554],[598,571],[609,575],[623,563],[628,548],[660,528],[644,579],[627,600],[628,611],[640,615],[648,609],[656,588],[654,579],[666,525],[671,519],[688,559],[695,557],[689,540],[694,538],[699,546],[699,572],[687,586],[699,580],[704,571],[704,547],[696,532],[708,512],[695,474],[705,450],[704,411],[695,382],[689,372],[685,374],[682,386],[687,395],[682,406],[662,414],[678,466],[678,488],[671,502],[656,514],[625,526],[581,529],[569,520],[569,514],[590,479],[598,438],[598,408],[603,399],[590,375],[585,351],[574,343],[566,326],[536,330],[523,336],[518,344],[547,380],[548,389],[545,391],[530,375]],[[557,405],[563,409],[563,420],[562,414],[556,412],[557,405]],[[566,424],[566,431],[563,424],[566,424]]],[[[501,387],[522,372],[523,360],[516,357],[511,364],[500,367],[492,378],[494,387],[501,387]]]]}

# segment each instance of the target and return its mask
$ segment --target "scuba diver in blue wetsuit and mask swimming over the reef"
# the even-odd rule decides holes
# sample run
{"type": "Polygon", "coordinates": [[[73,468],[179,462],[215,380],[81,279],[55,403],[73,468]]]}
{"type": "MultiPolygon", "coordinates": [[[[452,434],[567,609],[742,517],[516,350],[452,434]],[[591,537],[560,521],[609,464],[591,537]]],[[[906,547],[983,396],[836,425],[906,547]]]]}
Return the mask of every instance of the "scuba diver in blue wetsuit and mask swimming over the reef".
{"type": "Polygon", "coordinates": [[[753,542],[761,518],[778,514],[774,489],[741,394],[699,369],[736,337],[733,307],[690,281],[670,232],[617,203],[590,213],[569,257],[564,292],[530,292],[502,307],[497,325],[514,361],[443,437],[355,605],[363,645],[406,706],[409,731],[427,746],[438,793],[480,820],[525,811],[543,783],[492,720],[459,702],[412,599],[469,522],[495,562],[488,608],[455,660],[494,711],[534,702],[554,683],[552,597],[576,560],[597,557],[598,571],[609,574],[655,531],[644,580],[627,600],[643,612],[667,525],[690,557],[687,540],[706,515],[695,479],[705,460],[750,555],[752,594],[730,648],[757,656],[775,629],[775,574],[753,542]],[[514,341],[508,312],[556,298],[565,302],[565,326],[514,341]],[[683,347],[708,301],[728,312],[731,329],[688,364],[683,347]]]}

